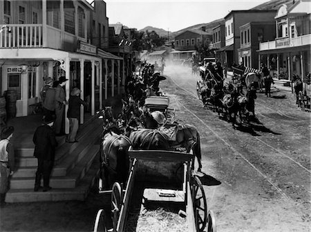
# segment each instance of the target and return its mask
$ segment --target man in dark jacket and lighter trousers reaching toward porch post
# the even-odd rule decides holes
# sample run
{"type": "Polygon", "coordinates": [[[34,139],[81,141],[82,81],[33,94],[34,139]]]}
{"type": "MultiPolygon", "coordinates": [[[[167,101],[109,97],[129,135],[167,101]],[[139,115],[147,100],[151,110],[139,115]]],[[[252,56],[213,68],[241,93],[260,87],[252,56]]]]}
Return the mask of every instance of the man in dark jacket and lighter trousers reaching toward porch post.
{"type": "Polygon", "coordinates": [[[77,143],[75,136],[77,136],[77,130],[79,129],[80,105],[87,105],[87,103],[79,97],[80,94],[81,90],[77,87],[74,87],[70,92],[67,112],[67,117],[69,118],[70,123],[69,134],[67,138],[68,143],[77,143]]]}

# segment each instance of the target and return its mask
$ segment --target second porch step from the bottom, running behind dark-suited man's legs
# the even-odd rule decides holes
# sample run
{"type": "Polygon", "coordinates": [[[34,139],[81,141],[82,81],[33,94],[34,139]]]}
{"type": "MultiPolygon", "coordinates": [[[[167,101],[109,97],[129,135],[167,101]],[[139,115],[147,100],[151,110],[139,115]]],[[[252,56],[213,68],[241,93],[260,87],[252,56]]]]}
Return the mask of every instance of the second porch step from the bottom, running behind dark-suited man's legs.
{"type": "MultiPolygon", "coordinates": [[[[50,187],[55,189],[72,189],[76,187],[77,182],[81,177],[84,176],[90,162],[93,161],[94,157],[98,153],[98,147],[93,145],[91,148],[86,147],[84,152],[87,150],[87,156],[82,158],[76,167],[70,171],[68,176],[57,177],[53,176],[50,178],[50,187]]],[[[41,180],[41,186],[43,186],[43,180],[41,180]]],[[[35,178],[12,178],[10,180],[10,189],[32,189],[35,187],[35,178]]]]}

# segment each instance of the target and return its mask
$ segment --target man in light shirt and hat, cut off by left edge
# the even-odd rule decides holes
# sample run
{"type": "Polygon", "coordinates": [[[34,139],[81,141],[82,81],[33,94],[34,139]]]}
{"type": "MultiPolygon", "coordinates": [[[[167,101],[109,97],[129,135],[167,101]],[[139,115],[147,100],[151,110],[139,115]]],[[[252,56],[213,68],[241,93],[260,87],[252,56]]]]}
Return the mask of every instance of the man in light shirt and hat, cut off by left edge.
{"type": "Polygon", "coordinates": [[[14,147],[10,141],[13,136],[14,127],[3,127],[0,140],[0,204],[6,202],[6,192],[8,191],[9,176],[13,174],[15,168],[14,147]]]}

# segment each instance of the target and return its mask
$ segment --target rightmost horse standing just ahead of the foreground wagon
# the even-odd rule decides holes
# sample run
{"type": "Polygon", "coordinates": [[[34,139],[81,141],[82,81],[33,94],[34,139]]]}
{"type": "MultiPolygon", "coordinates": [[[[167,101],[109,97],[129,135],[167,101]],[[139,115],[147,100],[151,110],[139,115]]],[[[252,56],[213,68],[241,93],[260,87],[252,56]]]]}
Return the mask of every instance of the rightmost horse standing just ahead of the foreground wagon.
{"type": "Polygon", "coordinates": [[[192,150],[198,160],[198,171],[202,169],[202,156],[200,149],[200,134],[193,125],[180,123],[166,123],[164,114],[160,111],[144,112],[144,125],[146,128],[158,129],[167,135],[169,147],[180,150],[185,148],[187,152],[192,150]]]}

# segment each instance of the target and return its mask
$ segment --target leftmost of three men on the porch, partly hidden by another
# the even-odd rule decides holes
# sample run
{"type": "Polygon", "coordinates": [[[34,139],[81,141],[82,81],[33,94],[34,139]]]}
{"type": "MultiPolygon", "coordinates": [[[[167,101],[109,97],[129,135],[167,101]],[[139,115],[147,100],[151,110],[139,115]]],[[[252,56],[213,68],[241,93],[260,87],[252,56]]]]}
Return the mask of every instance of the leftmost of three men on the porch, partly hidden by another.
{"type": "Polygon", "coordinates": [[[55,115],[55,88],[52,87],[53,79],[46,79],[45,84],[40,92],[44,112],[43,119],[48,118],[50,120],[55,115]]]}

